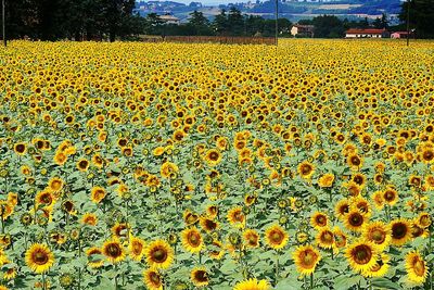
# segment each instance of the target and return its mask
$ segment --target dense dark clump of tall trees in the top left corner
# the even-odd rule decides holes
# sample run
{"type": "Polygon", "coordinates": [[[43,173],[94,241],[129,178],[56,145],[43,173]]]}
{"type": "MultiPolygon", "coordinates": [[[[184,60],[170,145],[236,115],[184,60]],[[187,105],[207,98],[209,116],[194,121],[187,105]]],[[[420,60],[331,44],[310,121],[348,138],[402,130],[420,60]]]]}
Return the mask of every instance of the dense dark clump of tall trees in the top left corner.
{"type": "Polygon", "coordinates": [[[135,0],[5,0],[7,38],[102,39],[130,35],[135,0]]]}

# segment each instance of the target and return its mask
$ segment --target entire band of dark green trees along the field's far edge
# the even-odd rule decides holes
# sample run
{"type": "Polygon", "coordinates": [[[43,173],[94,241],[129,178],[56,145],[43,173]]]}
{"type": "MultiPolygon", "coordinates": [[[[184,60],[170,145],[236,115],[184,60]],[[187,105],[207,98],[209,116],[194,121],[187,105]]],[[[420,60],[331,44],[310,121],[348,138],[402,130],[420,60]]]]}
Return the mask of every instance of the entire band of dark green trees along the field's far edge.
{"type": "MultiPolygon", "coordinates": [[[[276,34],[275,20],[242,14],[235,7],[221,9],[213,21],[202,12],[193,11],[186,23],[168,25],[155,13],[145,17],[136,15],[135,0],[7,0],[5,3],[9,39],[114,41],[137,39],[139,35],[271,37],[276,34]]],[[[410,29],[416,29],[418,37],[434,37],[434,0],[409,0],[403,2],[401,8],[401,24],[395,27],[388,27],[385,14],[374,21],[321,15],[298,24],[314,25],[315,37],[341,38],[348,28],[406,30],[409,17],[410,29]]],[[[289,20],[279,18],[278,27],[280,37],[291,36],[292,23],[289,20]]]]}

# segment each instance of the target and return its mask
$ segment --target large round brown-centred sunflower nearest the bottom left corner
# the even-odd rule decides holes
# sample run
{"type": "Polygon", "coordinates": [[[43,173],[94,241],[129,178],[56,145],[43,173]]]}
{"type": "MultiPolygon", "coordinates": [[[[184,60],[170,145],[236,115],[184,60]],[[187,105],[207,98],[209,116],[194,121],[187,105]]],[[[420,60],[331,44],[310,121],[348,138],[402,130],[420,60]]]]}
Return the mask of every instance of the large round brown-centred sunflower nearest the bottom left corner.
{"type": "Polygon", "coordinates": [[[26,251],[26,264],[33,272],[37,274],[44,273],[54,264],[54,254],[51,250],[41,243],[34,243],[26,251]]]}

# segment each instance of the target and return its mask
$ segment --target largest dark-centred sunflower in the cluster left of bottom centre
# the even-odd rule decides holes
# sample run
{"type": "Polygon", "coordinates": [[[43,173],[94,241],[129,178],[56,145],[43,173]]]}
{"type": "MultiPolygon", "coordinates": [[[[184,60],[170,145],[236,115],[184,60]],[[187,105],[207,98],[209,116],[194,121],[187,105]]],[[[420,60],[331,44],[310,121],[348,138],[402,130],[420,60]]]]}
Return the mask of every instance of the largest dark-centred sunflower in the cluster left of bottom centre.
{"type": "Polygon", "coordinates": [[[144,252],[146,262],[151,267],[168,268],[174,261],[174,250],[164,240],[151,242],[144,252]]]}

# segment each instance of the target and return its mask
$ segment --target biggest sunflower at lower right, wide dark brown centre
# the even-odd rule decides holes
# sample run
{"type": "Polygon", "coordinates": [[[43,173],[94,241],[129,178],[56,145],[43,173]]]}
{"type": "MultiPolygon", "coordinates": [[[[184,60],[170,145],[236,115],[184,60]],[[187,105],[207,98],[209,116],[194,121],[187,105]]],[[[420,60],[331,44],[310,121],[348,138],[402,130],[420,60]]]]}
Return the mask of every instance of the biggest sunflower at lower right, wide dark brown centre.
{"type": "Polygon", "coordinates": [[[349,266],[358,273],[371,270],[378,260],[376,249],[369,241],[356,241],[349,244],[345,256],[349,266]]]}

